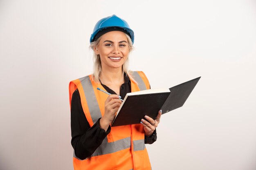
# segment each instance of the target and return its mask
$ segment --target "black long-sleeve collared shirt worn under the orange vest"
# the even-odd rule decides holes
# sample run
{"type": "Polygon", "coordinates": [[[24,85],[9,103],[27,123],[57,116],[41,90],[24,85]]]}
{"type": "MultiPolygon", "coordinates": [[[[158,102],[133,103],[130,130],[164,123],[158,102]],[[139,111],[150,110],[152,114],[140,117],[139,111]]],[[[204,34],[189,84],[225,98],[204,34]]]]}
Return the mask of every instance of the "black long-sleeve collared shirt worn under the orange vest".
{"type": "MultiPolygon", "coordinates": [[[[112,89],[106,85],[101,85],[110,94],[116,94],[112,89]]],[[[120,96],[124,98],[127,93],[131,92],[131,82],[128,76],[125,76],[125,82],[121,85],[120,96]]],[[[99,118],[100,120],[101,118],[99,118]]],[[[74,148],[76,157],[85,159],[92,155],[94,151],[101,145],[103,139],[110,133],[111,126],[108,130],[100,128],[99,120],[90,127],[88,120],[85,117],[81,105],[81,98],[79,91],[76,89],[72,95],[71,100],[71,144],[74,148]]],[[[145,144],[153,144],[157,139],[156,130],[150,137],[145,136],[145,144]]]]}

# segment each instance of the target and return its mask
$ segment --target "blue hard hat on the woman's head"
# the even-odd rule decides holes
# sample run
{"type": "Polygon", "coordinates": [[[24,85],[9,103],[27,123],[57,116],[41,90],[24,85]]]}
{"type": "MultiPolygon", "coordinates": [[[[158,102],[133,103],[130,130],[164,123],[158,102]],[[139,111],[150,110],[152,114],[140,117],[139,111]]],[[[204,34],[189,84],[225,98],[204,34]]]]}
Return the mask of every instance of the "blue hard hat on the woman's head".
{"type": "Polygon", "coordinates": [[[101,35],[103,35],[100,33],[107,33],[109,31],[122,31],[130,36],[130,38],[132,39],[132,44],[134,42],[134,33],[130,29],[128,23],[125,20],[117,17],[117,15],[112,15],[102,18],[96,23],[93,29],[93,33],[90,37],[90,43],[97,40],[101,35]]]}

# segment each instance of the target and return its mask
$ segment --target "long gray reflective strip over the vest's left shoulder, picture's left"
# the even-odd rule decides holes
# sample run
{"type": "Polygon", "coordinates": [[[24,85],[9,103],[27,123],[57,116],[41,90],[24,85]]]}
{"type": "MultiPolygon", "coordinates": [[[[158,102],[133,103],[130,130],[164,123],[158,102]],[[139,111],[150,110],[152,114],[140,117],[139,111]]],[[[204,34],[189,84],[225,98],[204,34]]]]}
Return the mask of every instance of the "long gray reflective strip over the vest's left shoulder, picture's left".
{"type": "Polygon", "coordinates": [[[101,111],[99,109],[99,105],[94,94],[94,90],[92,87],[92,83],[90,81],[89,76],[85,76],[83,78],[79,78],[81,85],[83,87],[84,95],[87,101],[87,105],[90,111],[90,115],[92,117],[92,122],[96,123],[99,118],[101,118],[101,111]]]}

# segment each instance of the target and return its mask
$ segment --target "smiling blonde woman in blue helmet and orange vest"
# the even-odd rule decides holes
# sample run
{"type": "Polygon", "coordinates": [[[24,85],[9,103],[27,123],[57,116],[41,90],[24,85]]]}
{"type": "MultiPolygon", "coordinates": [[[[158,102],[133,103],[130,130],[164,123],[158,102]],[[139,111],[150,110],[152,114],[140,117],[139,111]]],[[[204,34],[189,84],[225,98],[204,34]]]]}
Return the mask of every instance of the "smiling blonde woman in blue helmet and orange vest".
{"type": "Polygon", "coordinates": [[[133,31],[116,15],[99,20],[94,27],[90,38],[94,73],[70,82],[75,170],[151,169],[145,144],[156,141],[161,111],[155,120],[145,116],[141,124],[110,126],[121,105],[120,96],[150,88],[143,72],[128,72],[133,41],[133,31]]]}

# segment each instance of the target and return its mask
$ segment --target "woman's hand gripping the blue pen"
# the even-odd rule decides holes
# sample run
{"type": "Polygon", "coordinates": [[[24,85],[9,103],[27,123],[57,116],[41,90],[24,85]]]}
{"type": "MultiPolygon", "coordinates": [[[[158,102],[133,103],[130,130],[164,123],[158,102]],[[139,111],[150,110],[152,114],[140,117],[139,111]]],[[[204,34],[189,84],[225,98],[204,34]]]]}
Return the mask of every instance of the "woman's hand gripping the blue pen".
{"type": "Polygon", "coordinates": [[[108,130],[108,126],[113,122],[115,118],[115,113],[118,111],[121,106],[122,101],[119,99],[119,96],[116,94],[111,94],[105,101],[105,113],[101,118],[99,124],[102,129],[105,131],[108,130]]]}

